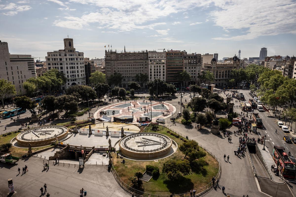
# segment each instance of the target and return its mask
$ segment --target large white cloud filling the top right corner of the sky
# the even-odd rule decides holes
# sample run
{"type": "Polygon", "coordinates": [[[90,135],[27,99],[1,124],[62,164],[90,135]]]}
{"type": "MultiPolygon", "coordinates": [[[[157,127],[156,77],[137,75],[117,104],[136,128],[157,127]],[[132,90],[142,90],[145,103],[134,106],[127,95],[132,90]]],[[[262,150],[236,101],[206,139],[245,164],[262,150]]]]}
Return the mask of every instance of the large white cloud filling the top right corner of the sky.
{"type": "Polygon", "coordinates": [[[250,40],[263,35],[296,34],[296,2],[294,0],[269,0],[268,4],[272,5],[272,12],[266,9],[265,0],[215,2],[218,9],[210,13],[215,25],[222,27],[226,32],[236,29],[246,33],[241,32],[241,35],[229,38],[212,39],[250,40]]]}

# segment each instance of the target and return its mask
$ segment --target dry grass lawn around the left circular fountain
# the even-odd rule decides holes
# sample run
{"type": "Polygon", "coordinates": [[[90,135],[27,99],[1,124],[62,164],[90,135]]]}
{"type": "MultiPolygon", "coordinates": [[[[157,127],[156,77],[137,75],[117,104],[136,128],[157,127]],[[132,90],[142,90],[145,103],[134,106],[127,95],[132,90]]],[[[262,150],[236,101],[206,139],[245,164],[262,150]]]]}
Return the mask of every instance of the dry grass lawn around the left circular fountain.
{"type": "MultiPolygon", "coordinates": [[[[11,132],[11,135],[7,135],[5,137],[3,137],[3,135],[0,136],[0,144],[6,144],[6,143],[10,143],[10,141],[16,137],[18,134],[20,134],[20,132],[18,133],[14,133],[14,132],[11,132]]],[[[38,151],[40,149],[44,149],[44,148],[47,148],[51,145],[48,145],[48,146],[44,146],[44,147],[37,147],[37,148],[32,148],[32,152],[34,151],[38,151]]],[[[17,148],[15,146],[12,146],[11,149],[9,150],[8,153],[12,153],[12,154],[15,154],[15,156],[20,156],[20,155],[24,155],[24,154],[27,154],[28,152],[28,149],[27,148],[17,148]],[[20,155],[18,155],[20,154],[20,155]]]]}

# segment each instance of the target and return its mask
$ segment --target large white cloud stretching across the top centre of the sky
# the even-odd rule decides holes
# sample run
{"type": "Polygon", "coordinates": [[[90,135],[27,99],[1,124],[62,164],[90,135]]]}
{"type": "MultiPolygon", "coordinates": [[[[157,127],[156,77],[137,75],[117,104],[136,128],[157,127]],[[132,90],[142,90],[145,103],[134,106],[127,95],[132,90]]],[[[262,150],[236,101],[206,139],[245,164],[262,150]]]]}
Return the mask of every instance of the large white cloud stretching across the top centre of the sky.
{"type": "Polygon", "coordinates": [[[75,19],[65,17],[63,20],[54,21],[54,25],[71,29],[83,29],[85,26],[89,26],[91,23],[96,23],[96,26],[127,32],[134,29],[154,29],[155,25],[160,25],[162,23],[152,23],[153,21],[176,13],[183,13],[184,16],[187,16],[187,10],[201,7],[205,4],[208,5],[212,0],[69,1],[70,3],[75,2],[81,4],[90,4],[91,6],[97,6],[98,9],[96,12],[83,14],[81,17],[74,17],[75,19]],[[119,16],[120,19],[118,19],[119,16]]]}

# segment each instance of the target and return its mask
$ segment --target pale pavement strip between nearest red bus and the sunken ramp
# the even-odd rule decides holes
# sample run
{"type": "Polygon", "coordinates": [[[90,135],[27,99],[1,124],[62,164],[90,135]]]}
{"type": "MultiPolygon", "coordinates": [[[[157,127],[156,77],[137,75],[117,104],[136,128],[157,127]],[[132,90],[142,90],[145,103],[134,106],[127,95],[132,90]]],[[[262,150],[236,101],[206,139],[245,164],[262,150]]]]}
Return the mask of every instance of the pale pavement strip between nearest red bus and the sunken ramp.
{"type": "MultiPolygon", "coordinates": [[[[284,178],[282,180],[281,177],[276,176],[274,174],[274,172],[271,171],[271,165],[275,165],[276,166],[276,163],[275,163],[274,159],[272,158],[272,155],[269,153],[268,149],[266,148],[265,151],[264,151],[264,150],[262,150],[263,149],[263,144],[257,143],[257,145],[259,147],[259,151],[261,152],[261,154],[263,156],[263,159],[266,162],[266,165],[267,165],[268,170],[269,170],[269,172],[271,174],[272,180],[274,182],[276,182],[276,183],[279,183],[279,184],[285,183],[285,179],[284,178]]],[[[263,164],[263,166],[264,166],[264,164],[263,164]]]]}

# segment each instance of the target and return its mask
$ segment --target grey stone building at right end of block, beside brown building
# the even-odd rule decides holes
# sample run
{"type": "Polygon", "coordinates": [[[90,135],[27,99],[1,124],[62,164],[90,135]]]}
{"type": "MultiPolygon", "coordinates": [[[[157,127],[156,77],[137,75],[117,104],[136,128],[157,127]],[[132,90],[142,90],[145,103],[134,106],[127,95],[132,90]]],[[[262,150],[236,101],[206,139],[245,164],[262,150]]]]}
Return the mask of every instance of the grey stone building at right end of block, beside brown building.
{"type": "Polygon", "coordinates": [[[191,84],[200,85],[200,76],[202,64],[201,64],[201,54],[184,52],[184,70],[190,74],[190,81],[186,82],[186,86],[191,84]]]}

